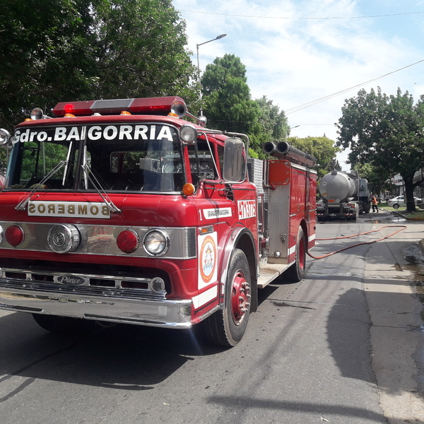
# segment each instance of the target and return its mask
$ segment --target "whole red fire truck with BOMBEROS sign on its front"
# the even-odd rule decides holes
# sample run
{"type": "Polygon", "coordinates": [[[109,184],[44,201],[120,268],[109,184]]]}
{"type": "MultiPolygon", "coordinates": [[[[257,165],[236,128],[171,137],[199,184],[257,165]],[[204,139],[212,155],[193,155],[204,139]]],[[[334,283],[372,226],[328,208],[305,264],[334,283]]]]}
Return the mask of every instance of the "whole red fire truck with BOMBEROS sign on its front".
{"type": "Polygon", "coordinates": [[[11,148],[1,309],[49,331],[199,324],[235,346],[258,288],[304,276],[310,156],[280,142],[264,146],[269,160],[248,159],[247,136],[207,129],[178,97],[61,102],[53,113],[36,108],[13,136],[0,130],[11,148]]]}

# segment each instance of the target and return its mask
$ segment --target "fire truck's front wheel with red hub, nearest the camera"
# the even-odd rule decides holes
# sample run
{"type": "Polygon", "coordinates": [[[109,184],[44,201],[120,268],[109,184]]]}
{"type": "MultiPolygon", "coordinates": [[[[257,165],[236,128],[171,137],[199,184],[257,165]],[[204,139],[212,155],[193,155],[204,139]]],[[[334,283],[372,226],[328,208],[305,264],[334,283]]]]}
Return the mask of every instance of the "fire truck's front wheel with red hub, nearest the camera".
{"type": "Polygon", "coordinates": [[[224,307],[202,323],[209,343],[231,348],[242,339],[249,321],[251,288],[246,255],[235,249],[228,266],[224,307]]]}

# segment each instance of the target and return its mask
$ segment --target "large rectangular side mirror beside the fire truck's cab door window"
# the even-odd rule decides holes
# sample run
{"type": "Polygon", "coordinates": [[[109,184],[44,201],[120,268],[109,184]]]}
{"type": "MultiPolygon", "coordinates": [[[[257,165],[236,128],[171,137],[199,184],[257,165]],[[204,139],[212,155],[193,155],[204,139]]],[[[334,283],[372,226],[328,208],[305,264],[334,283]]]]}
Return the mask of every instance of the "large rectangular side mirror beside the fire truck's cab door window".
{"type": "Polygon", "coordinates": [[[223,178],[228,182],[243,182],[245,175],[245,143],[237,137],[228,137],[224,143],[223,178]]]}

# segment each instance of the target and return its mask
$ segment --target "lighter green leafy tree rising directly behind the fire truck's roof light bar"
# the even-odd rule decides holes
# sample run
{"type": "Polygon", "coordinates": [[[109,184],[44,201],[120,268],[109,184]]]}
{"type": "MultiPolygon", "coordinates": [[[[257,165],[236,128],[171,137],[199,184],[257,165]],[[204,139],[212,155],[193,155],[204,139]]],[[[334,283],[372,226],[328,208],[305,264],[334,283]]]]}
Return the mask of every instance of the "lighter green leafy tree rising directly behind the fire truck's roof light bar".
{"type": "Polygon", "coordinates": [[[98,95],[105,98],[198,94],[185,34],[172,0],[102,0],[93,12],[98,95]]]}

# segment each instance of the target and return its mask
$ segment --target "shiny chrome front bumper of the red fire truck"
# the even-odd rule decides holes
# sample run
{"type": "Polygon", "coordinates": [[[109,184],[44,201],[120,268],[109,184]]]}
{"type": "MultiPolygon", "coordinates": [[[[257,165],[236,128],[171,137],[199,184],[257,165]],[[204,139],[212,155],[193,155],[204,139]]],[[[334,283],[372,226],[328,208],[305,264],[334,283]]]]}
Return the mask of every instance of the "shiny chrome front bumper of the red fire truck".
{"type": "Polygon", "coordinates": [[[192,300],[139,299],[17,288],[0,279],[0,309],[187,329],[192,300]]]}

